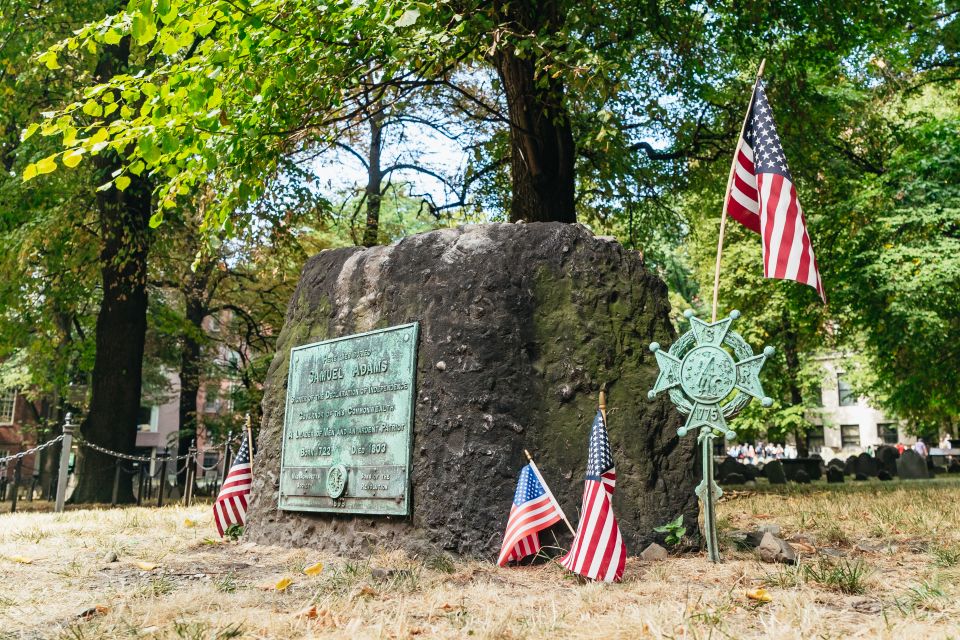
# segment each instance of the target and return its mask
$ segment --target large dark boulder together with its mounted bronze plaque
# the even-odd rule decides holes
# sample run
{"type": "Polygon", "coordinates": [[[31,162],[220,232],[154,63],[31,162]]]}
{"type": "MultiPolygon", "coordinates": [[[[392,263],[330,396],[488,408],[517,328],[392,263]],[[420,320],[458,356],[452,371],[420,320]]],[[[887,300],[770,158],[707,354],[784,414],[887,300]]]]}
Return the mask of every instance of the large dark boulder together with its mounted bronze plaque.
{"type": "Polygon", "coordinates": [[[674,339],[666,285],[581,225],[468,225],[323,251],[303,269],[267,374],[245,538],[347,555],[490,554],[525,448],[577,513],[606,383],[614,509],[639,551],[654,527],[697,522],[696,443],[678,439],[667,399],[643,393],[658,374],[646,346],[674,339]],[[345,339],[402,338],[414,323],[399,343],[415,340],[412,353],[345,339]],[[412,375],[397,368],[407,364],[412,375]]]}

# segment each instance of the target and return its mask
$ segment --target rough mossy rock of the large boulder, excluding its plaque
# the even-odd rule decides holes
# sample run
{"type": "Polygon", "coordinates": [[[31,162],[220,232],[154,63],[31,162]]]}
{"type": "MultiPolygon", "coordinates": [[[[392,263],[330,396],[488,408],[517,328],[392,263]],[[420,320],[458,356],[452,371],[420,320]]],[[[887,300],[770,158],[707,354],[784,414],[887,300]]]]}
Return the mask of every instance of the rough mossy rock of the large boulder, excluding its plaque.
{"type": "MultiPolygon", "coordinates": [[[[683,513],[697,521],[695,439],[650,402],[652,341],[670,344],[664,283],[580,225],[470,225],[304,267],[267,377],[247,531],[255,542],[361,554],[490,556],[529,449],[576,526],[597,393],[608,385],[614,508],[628,552],[683,513]],[[277,510],[290,349],[420,323],[409,518],[277,510]]],[[[554,532],[561,543],[570,534],[554,532]]],[[[546,541],[553,542],[547,534],[546,541]]]]}

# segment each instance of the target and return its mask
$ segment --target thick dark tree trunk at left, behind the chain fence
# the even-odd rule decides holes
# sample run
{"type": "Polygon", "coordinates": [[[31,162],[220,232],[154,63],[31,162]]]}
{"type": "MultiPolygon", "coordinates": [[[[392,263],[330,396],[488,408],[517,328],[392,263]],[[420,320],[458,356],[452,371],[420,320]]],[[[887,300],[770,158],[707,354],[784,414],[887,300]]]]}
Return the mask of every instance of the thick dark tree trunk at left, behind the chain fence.
{"type": "MultiPolygon", "coordinates": [[[[129,38],[109,47],[97,67],[99,79],[121,72],[128,56],[129,38]]],[[[113,154],[101,154],[95,166],[100,184],[121,163],[113,154]]],[[[89,442],[122,453],[133,453],[137,440],[150,244],[151,190],[144,179],[130,177],[123,192],[116,187],[97,192],[103,299],[97,316],[90,412],[80,428],[89,442]]],[[[113,456],[81,447],[73,502],[109,502],[115,463],[113,456]]],[[[121,474],[119,502],[133,501],[131,478],[121,474]]]]}

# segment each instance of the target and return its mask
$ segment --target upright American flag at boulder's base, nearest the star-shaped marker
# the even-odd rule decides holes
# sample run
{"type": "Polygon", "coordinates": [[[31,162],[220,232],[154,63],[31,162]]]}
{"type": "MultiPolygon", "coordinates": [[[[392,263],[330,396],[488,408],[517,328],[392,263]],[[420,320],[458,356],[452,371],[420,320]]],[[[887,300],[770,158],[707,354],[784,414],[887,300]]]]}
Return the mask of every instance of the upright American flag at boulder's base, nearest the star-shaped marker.
{"type": "Polygon", "coordinates": [[[617,472],[603,412],[597,411],[590,430],[587,481],[583,489],[580,523],[570,552],[560,560],[564,567],[592,580],[619,582],[627,562],[627,549],[613,515],[611,498],[617,472]]]}

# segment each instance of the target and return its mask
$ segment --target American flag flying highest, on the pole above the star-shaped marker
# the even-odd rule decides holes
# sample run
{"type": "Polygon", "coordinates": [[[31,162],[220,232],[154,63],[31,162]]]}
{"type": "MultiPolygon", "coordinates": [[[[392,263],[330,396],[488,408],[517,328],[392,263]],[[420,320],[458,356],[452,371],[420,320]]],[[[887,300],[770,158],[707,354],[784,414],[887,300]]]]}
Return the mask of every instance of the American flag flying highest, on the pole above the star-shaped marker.
{"type": "Polygon", "coordinates": [[[827,297],[763,82],[757,79],[731,172],[727,212],[760,234],[763,275],[796,280],[827,297]]]}

